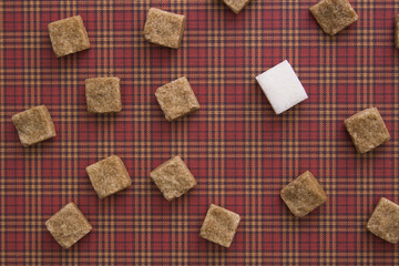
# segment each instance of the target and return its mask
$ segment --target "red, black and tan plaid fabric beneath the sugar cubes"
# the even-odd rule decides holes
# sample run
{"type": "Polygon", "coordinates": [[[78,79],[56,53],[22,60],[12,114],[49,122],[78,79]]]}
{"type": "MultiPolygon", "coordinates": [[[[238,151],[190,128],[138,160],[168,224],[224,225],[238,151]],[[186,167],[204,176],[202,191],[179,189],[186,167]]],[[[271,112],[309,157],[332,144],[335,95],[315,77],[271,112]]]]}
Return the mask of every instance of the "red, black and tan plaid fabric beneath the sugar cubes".
{"type": "Polygon", "coordinates": [[[381,196],[399,203],[396,1],[351,0],[331,38],[317,1],[0,1],[1,265],[398,265],[366,231],[381,196]],[[182,48],[142,35],[150,7],[187,17],[182,48]],[[57,59],[47,25],[81,14],[91,49],[57,59]],[[255,76],[287,59],[309,99],[276,116],[255,76]],[[84,80],[121,78],[123,111],[86,112],[84,80]],[[200,112],[168,123],[156,88],[186,75],[200,112]],[[45,104],[57,137],[23,149],[11,115],[45,104]],[[359,155],[342,121],[377,106],[391,140],[359,155]],[[111,154],[133,185],[100,201],[85,167],[111,154]],[[180,154],[198,185],[167,203],[149,173],[180,154]],[[310,170],[328,202],[297,221],[279,197],[310,170]],[[93,231],[62,250],[44,222],[73,201],[93,231]],[[211,203],[242,215],[229,249],[198,237],[211,203]]]}

